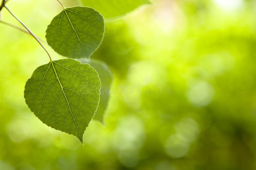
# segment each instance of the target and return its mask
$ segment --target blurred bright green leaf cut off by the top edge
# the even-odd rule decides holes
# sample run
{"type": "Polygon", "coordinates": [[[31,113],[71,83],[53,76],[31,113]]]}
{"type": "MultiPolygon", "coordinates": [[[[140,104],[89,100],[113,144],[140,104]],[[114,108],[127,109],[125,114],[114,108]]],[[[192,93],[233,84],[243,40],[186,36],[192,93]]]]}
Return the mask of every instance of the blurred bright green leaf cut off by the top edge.
{"type": "Polygon", "coordinates": [[[151,4],[149,0],[81,0],[84,6],[89,6],[104,18],[116,18],[138,8],[142,4],[151,4]]]}

